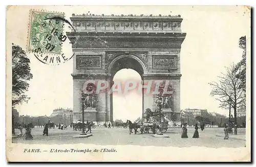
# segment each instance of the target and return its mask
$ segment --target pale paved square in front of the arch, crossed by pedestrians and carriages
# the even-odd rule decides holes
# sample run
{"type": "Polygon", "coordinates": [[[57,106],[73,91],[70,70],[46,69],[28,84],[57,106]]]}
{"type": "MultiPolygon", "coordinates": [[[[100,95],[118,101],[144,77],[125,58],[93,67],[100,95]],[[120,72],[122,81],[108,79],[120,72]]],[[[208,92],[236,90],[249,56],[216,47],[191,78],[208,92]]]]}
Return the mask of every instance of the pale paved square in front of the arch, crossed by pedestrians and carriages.
{"type": "MultiPolygon", "coordinates": [[[[181,128],[170,128],[165,133],[169,138],[156,138],[152,134],[129,134],[129,128],[93,128],[89,138],[73,138],[79,134],[72,128],[66,130],[49,129],[49,136],[42,136],[43,128],[33,128],[33,140],[13,139],[14,143],[26,144],[95,144],[95,145],[139,145],[139,146],[175,146],[175,147],[245,147],[245,141],[237,139],[224,140],[216,135],[224,135],[223,128],[199,129],[200,138],[192,138],[194,128],[188,128],[188,137],[181,138],[181,128]]],[[[16,131],[18,133],[18,130],[16,131]]],[[[24,130],[25,132],[25,130],[24,130]]],[[[16,133],[16,134],[17,134],[16,133]]],[[[245,136],[245,129],[238,129],[239,136],[245,136]]]]}

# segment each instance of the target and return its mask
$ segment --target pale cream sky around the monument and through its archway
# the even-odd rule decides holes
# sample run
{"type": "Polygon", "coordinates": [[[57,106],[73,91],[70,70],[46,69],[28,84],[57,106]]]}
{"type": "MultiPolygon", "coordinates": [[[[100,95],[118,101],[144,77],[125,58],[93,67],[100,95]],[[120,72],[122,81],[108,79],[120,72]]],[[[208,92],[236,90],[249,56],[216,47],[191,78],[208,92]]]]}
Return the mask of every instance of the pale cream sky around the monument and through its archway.
{"type": "MultiPolygon", "coordinates": [[[[11,8],[17,16],[28,18],[30,7],[11,8]]],[[[216,81],[217,76],[225,71],[225,66],[237,63],[242,58],[239,48],[239,38],[250,36],[250,17],[242,7],[33,7],[48,11],[65,12],[67,19],[72,13],[82,14],[144,14],[144,15],[181,15],[183,18],[181,29],[187,33],[181,47],[181,109],[199,108],[209,112],[226,114],[220,109],[215,98],[209,96],[211,88],[209,82],[216,81]]],[[[11,20],[11,19],[10,19],[11,20]]],[[[8,21],[15,29],[7,32],[7,38],[26,49],[28,19],[8,21]],[[18,26],[17,26],[18,25],[18,26]],[[9,35],[9,36],[8,36],[9,35]]],[[[248,38],[247,38],[248,39],[248,38]]],[[[63,45],[63,52],[72,54],[70,44],[63,45]]],[[[58,66],[42,64],[31,54],[31,73],[33,79],[29,82],[27,92],[31,98],[26,104],[17,106],[20,115],[50,115],[53,109],[73,108],[72,63],[70,60],[58,66]]],[[[133,70],[120,70],[115,79],[125,80],[124,76],[140,76],[133,70]]],[[[114,119],[130,117],[135,120],[141,116],[141,96],[130,94],[126,97],[114,96],[114,119]],[[119,104],[119,105],[117,105],[119,104]]]]}

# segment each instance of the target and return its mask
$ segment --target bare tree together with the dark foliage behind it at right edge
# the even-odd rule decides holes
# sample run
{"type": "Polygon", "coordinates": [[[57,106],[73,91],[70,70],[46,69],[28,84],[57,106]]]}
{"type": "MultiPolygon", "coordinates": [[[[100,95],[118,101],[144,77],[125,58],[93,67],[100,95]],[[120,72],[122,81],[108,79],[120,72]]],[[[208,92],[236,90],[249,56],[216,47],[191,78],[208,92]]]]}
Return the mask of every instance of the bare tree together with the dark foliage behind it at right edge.
{"type": "MultiPolygon", "coordinates": [[[[211,96],[216,97],[221,108],[234,111],[234,134],[237,134],[237,110],[245,107],[246,98],[246,36],[239,39],[243,50],[242,60],[226,68],[226,73],[218,76],[219,81],[209,83],[212,86],[211,96]]],[[[230,115],[230,113],[229,113],[230,115]]]]}

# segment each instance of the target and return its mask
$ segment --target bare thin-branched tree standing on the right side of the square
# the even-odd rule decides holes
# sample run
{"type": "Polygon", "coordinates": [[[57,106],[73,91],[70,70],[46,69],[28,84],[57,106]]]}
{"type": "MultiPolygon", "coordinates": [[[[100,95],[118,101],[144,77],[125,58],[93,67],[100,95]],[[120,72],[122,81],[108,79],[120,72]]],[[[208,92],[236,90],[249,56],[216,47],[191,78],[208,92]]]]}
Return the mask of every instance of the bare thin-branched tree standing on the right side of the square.
{"type": "Polygon", "coordinates": [[[226,74],[218,76],[219,82],[209,83],[212,87],[211,96],[216,97],[221,108],[227,109],[229,105],[234,110],[234,134],[237,134],[237,108],[244,103],[244,89],[242,81],[237,77],[239,70],[232,64],[226,68],[226,74]]]}

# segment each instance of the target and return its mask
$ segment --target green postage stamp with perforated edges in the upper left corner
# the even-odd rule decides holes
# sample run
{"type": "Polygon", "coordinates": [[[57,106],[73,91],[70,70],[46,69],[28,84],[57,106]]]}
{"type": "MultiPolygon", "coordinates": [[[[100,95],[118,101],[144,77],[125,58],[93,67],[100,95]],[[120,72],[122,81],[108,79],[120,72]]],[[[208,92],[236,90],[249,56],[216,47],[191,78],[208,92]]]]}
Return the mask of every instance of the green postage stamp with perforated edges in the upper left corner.
{"type": "Polygon", "coordinates": [[[37,54],[60,54],[63,35],[64,13],[30,11],[28,52],[37,54]]]}

